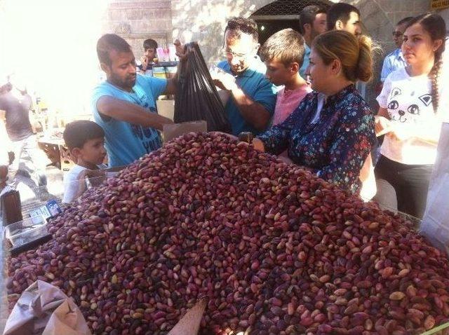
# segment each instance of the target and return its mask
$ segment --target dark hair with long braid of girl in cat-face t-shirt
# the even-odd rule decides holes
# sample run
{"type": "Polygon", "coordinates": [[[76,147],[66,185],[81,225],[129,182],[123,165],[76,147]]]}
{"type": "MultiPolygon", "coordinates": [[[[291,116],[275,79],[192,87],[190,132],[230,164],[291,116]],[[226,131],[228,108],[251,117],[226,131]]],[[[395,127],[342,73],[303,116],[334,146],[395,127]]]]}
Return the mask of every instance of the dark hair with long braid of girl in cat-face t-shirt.
{"type": "Polygon", "coordinates": [[[437,41],[441,39],[442,43],[438,50],[435,51],[435,62],[434,67],[432,67],[429,76],[431,77],[432,82],[432,105],[434,107],[434,111],[438,111],[438,103],[439,103],[439,93],[438,93],[438,77],[440,75],[441,65],[443,64],[443,52],[445,49],[445,38],[446,38],[446,24],[441,18],[440,15],[434,13],[425,13],[422,15],[418,15],[413,20],[408,22],[407,28],[420,24],[422,28],[429,33],[432,41],[437,41]]]}

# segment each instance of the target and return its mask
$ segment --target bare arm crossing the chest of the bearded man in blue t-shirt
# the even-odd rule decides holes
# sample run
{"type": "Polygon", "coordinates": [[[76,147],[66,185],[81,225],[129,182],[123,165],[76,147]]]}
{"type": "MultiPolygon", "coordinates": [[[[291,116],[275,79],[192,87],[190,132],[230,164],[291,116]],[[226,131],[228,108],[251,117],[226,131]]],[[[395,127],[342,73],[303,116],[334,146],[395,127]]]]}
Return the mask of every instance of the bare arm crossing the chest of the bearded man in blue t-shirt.
{"type": "Polygon", "coordinates": [[[148,111],[137,104],[132,104],[116,99],[109,95],[103,95],[97,101],[97,109],[101,114],[119,121],[126,121],[135,125],[163,130],[163,125],[173,123],[169,118],[148,111]]]}

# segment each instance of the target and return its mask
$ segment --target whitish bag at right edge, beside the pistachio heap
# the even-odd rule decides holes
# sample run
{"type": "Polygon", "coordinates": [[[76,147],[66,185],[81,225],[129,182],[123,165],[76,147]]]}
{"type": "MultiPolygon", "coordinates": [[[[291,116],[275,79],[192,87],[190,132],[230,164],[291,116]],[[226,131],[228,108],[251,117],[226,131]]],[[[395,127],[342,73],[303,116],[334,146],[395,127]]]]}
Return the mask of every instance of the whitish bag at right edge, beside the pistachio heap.
{"type": "Polygon", "coordinates": [[[449,123],[443,123],[421,233],[449,254],[449,123]]]}

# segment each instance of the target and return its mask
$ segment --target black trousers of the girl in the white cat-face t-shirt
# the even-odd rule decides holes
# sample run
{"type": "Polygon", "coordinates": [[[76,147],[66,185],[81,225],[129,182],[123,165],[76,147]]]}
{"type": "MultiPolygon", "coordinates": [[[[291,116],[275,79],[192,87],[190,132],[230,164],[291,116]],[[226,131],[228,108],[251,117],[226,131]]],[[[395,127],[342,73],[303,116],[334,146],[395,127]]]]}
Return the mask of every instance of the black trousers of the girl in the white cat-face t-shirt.
{"type": "Polygon", "coordinates": [[[376,179],[384,179],[396,191],[400,212],[422,219],[433,166],[402,164],[380,156],[374,172],[376,179]]]}

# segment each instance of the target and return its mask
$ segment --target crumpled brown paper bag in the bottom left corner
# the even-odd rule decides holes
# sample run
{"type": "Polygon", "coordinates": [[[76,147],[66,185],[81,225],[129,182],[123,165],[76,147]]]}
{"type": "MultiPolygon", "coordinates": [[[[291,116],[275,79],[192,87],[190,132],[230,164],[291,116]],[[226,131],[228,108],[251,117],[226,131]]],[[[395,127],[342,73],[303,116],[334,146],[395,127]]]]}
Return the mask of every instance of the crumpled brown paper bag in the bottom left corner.
{"type": "Polygon", "coordinates": [[[22,293],[6,321],[4,335],[21,334],[91,335],[91,331],[72,299],[58,287],[36,280],[22,293]],[[69,309],[72,312],[67,313],[69,309]]]}

